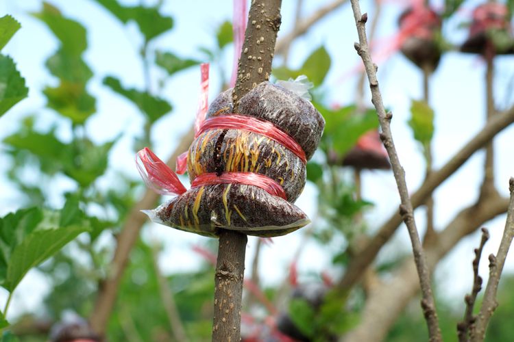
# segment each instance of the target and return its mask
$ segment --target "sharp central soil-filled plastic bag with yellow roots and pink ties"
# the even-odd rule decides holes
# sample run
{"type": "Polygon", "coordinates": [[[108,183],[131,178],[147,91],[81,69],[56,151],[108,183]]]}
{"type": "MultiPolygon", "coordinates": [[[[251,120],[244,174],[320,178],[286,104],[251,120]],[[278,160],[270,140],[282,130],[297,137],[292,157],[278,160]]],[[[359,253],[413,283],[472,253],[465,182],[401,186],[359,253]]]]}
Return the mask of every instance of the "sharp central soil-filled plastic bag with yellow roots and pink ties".
{"type": "MultiPolygon", "coordinates": [[[[205,90],[208,78],[202,79],[205,90]]],[[[232,90],[221,93],[208,111],[203,92],[195,140],[178,162],[178,173],[187,168],[189,190],[154,153],[140,150],[138,169],[147,185],[175,195],[145,211],[151,220],[210,237],[220,228],[274,237],[308,224],[293,202],[304,188],[306,162],[325,121],[298,94],[298,83],[260,83],[241,98],[238,113],[232,113],[232,90]]]]}

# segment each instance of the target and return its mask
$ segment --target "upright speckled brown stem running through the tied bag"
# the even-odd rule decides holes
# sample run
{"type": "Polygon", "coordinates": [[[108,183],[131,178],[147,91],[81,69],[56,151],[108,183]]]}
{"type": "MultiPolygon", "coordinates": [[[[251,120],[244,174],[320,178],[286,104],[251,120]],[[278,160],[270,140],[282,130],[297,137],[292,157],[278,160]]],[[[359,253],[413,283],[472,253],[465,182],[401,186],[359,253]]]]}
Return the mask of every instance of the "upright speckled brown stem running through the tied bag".
{"type": "MultiPolygon", "coordinates": [[[[259,83],[269,80],[280,29],[281,0],[254,0],[248,14],[243,51],[238,62],[237,81],[232,92],[234,113],[238,100],[259,83]]],[[[212,341],[241,339],[241,300],[247,236],[221,231],[215,273],[215,310],[212,341]]]]}

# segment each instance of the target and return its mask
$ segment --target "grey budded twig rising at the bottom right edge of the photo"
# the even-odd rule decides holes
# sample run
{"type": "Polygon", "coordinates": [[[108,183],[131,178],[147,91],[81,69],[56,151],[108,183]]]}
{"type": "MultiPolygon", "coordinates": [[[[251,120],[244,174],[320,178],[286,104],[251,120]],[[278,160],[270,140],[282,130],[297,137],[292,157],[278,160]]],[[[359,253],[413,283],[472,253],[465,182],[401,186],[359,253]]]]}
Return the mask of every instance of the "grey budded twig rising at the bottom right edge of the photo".
{"type": "Polygon", "coordinates": [[[487,287],[485,287],[480,313],[478,313],[476,322],[472,327],[472,342],[484,341],[487,324],[489,324],[489,319],[498,306],[496,291],[498,291],[498,283],[502,275],[503,265],[514,237],[514,178],[511,178],[509,181],[509,191],[511,192],[511,201],[509,202],[509,209],[507,209],[505,229],[498,253],[496,253],[496,256],[493,254],[489,255],[489,280],[487,280],[487,287]]]}

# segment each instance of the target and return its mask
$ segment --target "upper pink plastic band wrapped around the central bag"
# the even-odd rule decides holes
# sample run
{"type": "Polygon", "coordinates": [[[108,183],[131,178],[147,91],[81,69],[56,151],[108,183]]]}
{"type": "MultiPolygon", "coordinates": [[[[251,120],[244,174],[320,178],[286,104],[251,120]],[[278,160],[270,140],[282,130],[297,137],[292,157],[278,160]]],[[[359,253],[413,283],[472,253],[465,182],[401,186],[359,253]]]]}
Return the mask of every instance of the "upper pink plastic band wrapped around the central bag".
{"type": "Polygon", "coordinates": [[[244,131],[264,135],[265,137],[269,137],[269,139],[278,142],[282,146],[285,146],[297,155],[297,157],[304,163],[307,163],[307,157],[302,146],[299,146],[291,135],[282,131],[282,129],[279,129],[269,121],[241,114],[215,116],[205,120],[196,136],[199,136],[201,133],[211,129],[242,129],[244,131]]]}

